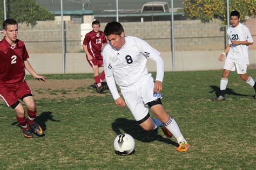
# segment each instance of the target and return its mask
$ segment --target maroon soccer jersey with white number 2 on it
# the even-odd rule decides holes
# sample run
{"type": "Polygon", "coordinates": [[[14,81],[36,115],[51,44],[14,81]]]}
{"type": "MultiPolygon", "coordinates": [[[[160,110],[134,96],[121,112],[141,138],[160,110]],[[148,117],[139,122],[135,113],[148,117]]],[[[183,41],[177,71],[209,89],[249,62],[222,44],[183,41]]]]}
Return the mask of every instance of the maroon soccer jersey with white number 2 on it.
{"type": "Polygon", "coordinates": [[[0,41],[0,83],[17,83],[24,80],[24,60],[29,58],[23,41],[11,47],[5,38],[0,41]]]}

